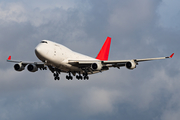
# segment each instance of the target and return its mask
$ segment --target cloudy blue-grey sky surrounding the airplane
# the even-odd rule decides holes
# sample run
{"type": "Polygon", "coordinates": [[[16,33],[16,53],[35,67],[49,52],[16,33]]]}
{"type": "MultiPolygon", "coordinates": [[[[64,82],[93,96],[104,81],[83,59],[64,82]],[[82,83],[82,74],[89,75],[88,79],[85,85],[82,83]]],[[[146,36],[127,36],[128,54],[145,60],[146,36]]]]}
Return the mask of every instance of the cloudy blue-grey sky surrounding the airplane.
{"type": "Polygon", "coordinates": [[[178,120],[179,0],[1,0],[1,120],[178,120]],[[112,68],[89,81],[17,72],[6,59],[39,61],[43,39],[95,57],[112,37],[110,60],[169,56],[136,69],[112,68]]]}

